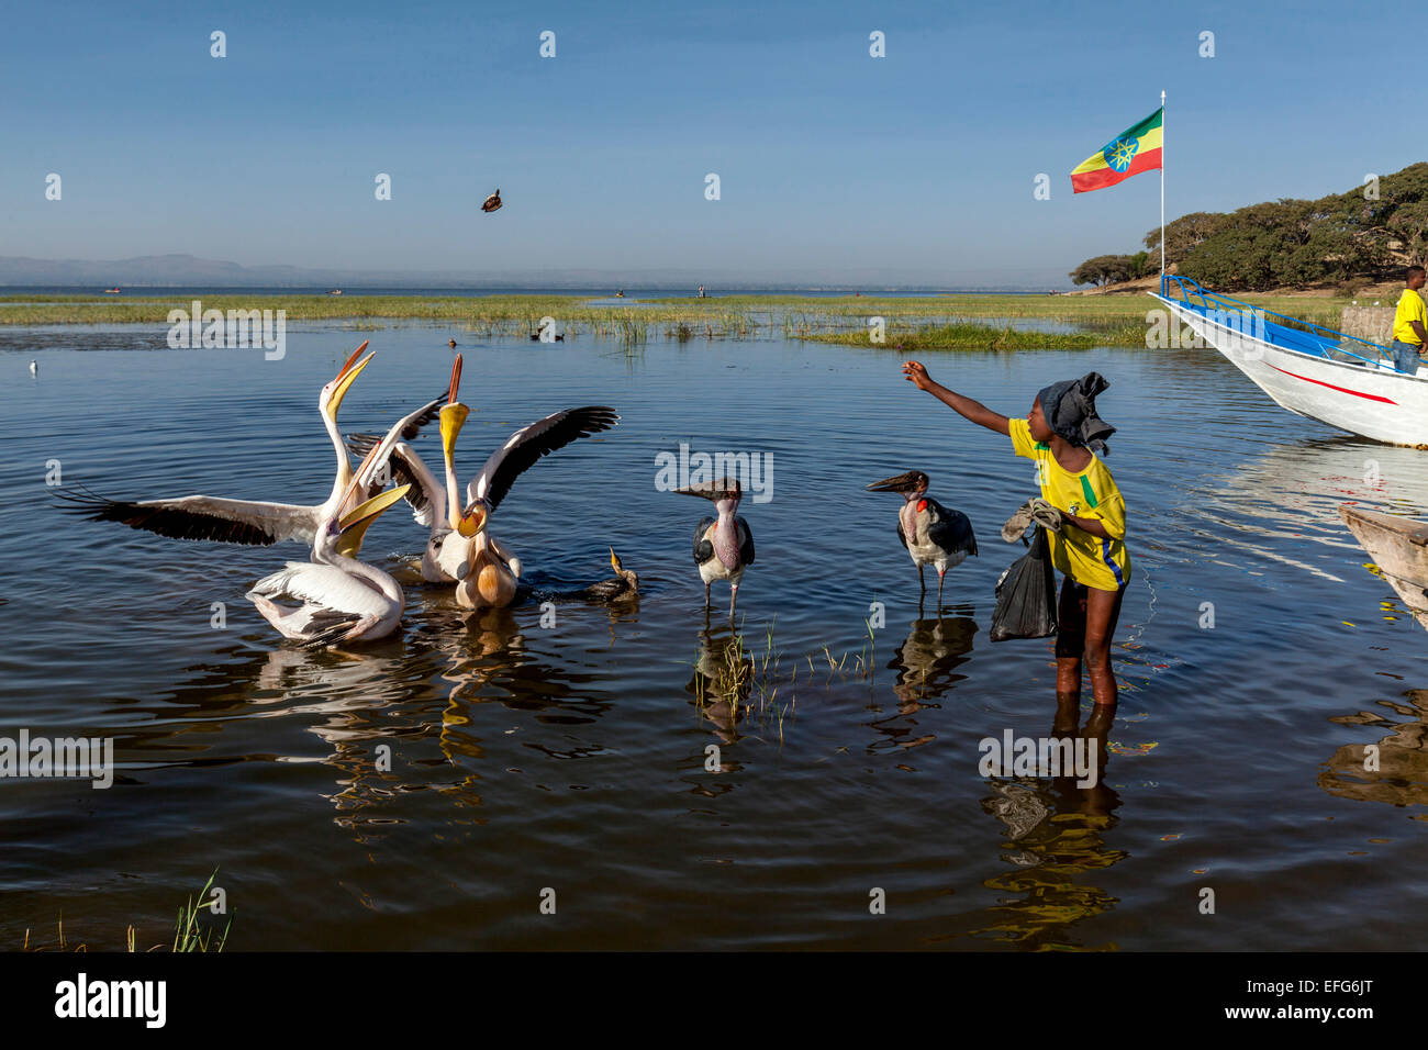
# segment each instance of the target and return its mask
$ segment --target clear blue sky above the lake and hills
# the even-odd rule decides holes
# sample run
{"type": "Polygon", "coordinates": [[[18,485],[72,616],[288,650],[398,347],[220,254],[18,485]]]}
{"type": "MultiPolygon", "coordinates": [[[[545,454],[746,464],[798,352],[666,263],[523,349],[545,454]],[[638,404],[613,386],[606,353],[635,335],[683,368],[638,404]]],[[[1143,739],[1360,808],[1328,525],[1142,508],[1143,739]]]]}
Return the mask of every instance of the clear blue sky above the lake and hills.
{"type": "Polygon", "coordinates": [[[1421,160],[1418,39],[1375,10],[9,4],[0,254],[1050,287],[1158,223],[1155,173],[1074,197],[1068,173],[1162,89],[1170,219],[1421,160]]]}

